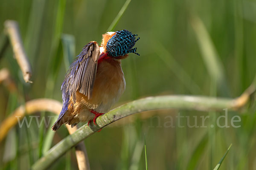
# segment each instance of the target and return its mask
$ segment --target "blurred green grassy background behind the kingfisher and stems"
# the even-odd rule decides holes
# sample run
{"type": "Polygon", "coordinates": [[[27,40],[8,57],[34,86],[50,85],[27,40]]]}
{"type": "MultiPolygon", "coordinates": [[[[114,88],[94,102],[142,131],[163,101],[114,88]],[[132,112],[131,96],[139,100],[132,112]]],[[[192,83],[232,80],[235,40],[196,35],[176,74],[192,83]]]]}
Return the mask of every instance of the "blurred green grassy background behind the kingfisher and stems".
{"type": "MultiPolygon", "coordinates": [[[[88,42],[101,41],[124,3],[0,0],[0,30],[3,33],[5,20],[19,23],[34,82],[24,82],[9,46],[0,58],[0,68],[9,69],[18,91],[9,92],[0,85],[0,122],[25,101],[42,97],[61,101],[60,87],[69,61],[88,42]]],[[[234,98],[256,74],[255,0],[132,0],[114,30],[122,29],[139,35],[140,57],[130,54],[122,61],[126,90],[116,105],[166,94],[234,98]]],[[[52,115],[36,115],[41,114],[52,115]]],[[[168,110],[120,120],[84,140],[90,167],[145,169],[145,136],[149,170],[213,169],[231,143],[220,169],[256,170],[255,110],[229,112],[229,125],[233,116],[241,117],[239,128],[211,128],[220,115],[224,111],[168,110]],[[195,124],[192,116],[198,116],[198,125],[202,123],[199,116],[210,117],[205,128],[182,128],[175,126],[178,113],[190,116],[191,125],[195,124]],[[166,127],[168,116],[175,127],[166,127]]],[[[188,122],[181,120],[183,125],[188,122]]],[[[44,150],[68,135],[64,126],[53,139],[49,131],[38,128],[35,119],[30,128],[14,127],[0,145],[0,169],[29,169],[44,150]]],[[[78,169],[74,153],[70,150],[50,169],[78,169]]]]}

